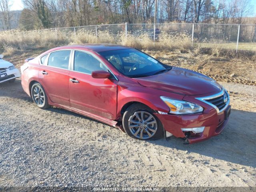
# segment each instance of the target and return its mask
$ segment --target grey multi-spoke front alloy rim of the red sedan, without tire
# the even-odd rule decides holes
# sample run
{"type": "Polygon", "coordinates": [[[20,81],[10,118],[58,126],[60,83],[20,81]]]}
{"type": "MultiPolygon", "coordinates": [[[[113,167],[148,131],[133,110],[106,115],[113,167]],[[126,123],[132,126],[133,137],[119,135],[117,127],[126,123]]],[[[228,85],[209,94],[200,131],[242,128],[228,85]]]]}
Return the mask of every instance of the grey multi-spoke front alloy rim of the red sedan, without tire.
{"type": "Polygon", "coordinates": [[[140,139],[148,139],[157,131],[157,122],[152,114],[146,111],[137,111],[128,120],[130,132],[140,139]]]}

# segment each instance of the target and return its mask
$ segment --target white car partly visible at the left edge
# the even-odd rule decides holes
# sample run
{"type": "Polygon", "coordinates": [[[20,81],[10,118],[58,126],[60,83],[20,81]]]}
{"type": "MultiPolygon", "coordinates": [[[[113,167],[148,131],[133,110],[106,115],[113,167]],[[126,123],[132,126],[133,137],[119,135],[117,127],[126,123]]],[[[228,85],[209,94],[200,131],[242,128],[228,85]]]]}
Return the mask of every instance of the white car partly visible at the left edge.
{"type": "Polygon", "coordinates": [[[0,83],[14,82],[16,78],[20,77],[20,72],[12,63],[3,60],[3,57],[0,55],[0,83]]]}

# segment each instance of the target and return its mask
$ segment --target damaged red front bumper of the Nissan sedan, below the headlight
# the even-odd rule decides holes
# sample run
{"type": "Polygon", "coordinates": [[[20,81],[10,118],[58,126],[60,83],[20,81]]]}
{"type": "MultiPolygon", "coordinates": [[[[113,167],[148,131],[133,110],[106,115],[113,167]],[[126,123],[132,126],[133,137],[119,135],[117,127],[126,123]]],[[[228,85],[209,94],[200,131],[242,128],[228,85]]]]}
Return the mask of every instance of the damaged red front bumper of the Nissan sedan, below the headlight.
{"type": "MultiPolygon", "coordinates": [[[[208,113],[192,114],[192,115],[171,115],[171,114],[155,114],[162,122],[164,129],[172,133],[176,137],[186,138],[189,144],[207,140],[222,132],[225,128],[228,118],[226,118],[228,106],[224,111],[217,113],[212,108],[208,113]],[[194,128],[204,126],[202,133],[194,134],[192,132],[184,132],[181,128],[194,128]],[[190,134],[192,133],[192,134],[190,134]]],[[[229,115],[228,115],[229,116],[229,115]]]]}

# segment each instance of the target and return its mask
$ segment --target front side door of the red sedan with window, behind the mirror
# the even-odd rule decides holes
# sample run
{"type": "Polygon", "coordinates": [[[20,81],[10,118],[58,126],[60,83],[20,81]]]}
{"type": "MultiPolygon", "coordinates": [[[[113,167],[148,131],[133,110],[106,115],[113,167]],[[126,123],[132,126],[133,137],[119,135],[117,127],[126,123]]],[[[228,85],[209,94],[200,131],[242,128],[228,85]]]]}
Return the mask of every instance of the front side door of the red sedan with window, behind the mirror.
{"type": "Polygon", "coordinates": [[[109,69],[94,54],[75,50],[70,71],[70,106],[106,118],[116,117],[117,79],[92,78],[92,71],[109,69]]]}

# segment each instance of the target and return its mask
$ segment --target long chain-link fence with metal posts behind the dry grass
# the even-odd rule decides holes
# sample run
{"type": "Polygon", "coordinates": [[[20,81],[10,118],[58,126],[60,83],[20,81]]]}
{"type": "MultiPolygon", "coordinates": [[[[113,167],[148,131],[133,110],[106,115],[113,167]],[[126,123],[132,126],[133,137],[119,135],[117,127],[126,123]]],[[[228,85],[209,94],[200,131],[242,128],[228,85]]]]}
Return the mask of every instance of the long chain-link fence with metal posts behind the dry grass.
{"type": "MultiPolygon", "coordinates": [[[[65,36],[95,36],[104,39],[113,38],[115,42],[122,37],[136,37],[143,39],[147,36],[152,42],[161,42],[163,38],[186,36],[192,46],[219,47],[232,50],[256,51],[256,25],[231,25],[231,24],[108,24],[94,26],[80,26],[69,28],[54,28],[38,31],[23,31],[30,35],[35,33],[44,35],[44,32],[54,35],[65,36]]],[[[176,38],[177,39],[177,38],[176,38]]],[[[182,38],[178,38],[182,40],[182,38]]],[[[107,41],[106,41],[107,42],[107,41]]]]}

